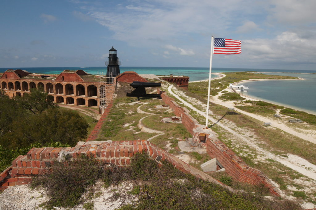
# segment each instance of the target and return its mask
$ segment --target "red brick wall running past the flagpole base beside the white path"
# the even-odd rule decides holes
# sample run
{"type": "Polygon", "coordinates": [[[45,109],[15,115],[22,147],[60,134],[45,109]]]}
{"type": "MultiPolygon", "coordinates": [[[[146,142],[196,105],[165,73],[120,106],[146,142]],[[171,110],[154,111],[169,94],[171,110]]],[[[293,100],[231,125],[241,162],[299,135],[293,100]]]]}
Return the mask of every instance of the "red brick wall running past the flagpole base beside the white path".
{"type": "MultiPolygon", "coordinates": [[[[193,128],[202,126],[189,114],[186,108],[180,107],[165,92],[160,90],[158,92],[161,94],[162,100],[173,109],[174,114],[182,117],[182,124],[188,132],[193,135],[193,128]]],[[[206,139],[206,151],[210,158],[216,158],[224,166],[227,173],[235,180],[253,185],[264,184],[272,195],[281,197],[277,187],[271,183],[268,177],[264,176],[261,171],[247,166],[241,158],[217,138],[211,137],[206,139]]]]}

